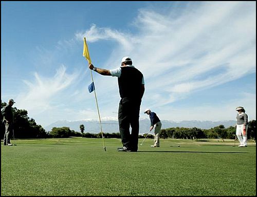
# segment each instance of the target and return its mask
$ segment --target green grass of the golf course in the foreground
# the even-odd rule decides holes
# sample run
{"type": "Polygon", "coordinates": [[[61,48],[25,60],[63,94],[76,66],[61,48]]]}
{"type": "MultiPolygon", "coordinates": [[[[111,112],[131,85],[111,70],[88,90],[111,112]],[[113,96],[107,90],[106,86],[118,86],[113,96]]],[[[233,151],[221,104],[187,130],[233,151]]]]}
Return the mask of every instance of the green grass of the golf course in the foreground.
{"type": "Polygon", "coordinates": [[[13,140],[1,145],[1,195],[256,195],[256,145],[139,139],[13,140]],[[178,147],[179,145],[179,147],[178,147]]]}

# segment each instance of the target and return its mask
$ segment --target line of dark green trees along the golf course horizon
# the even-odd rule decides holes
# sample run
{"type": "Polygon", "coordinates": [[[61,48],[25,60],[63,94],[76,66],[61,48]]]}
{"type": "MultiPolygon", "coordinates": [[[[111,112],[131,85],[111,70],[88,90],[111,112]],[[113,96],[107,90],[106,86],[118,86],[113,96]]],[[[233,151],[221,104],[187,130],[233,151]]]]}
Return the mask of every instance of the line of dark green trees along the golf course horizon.
{"type": "MultiPolygon", "coordinates": [[[[1,101],[1,109],[6,106],[6,103],[1,101]]],[[[27,110],[13,108],[14,114],[14,135],[15,138],[29,139],[29,138],[48,138],[48,137],[72,137],[82,136],[89,138],[101,138],[101,132],[99,133],[84,133],[85,126],[79,125],[81,132],[70,130],[69,127],[53,127],[51,131],[46,130],[41,126],[37,125],[35,120],[28,117],[27,110]]],[[[3,116],[1,113],[1,139],[4,138],[5,124],[3,123],[3,116]]],[[[103,133],[105,138],[120,138],[120,133],[103,133]]],[[[146,134],[139,135],[139,138],[146,137],[146,134]]],[[[153,138],[152,134],[147,136],[153,138]]],[[[235,127],[225,128],[223,125],[216,126],[211,129],[199,129],[199,128],[167,128],[161,129],[161,139],[235,139],[235,127]]],[[[256,121],[252,120],[248,122],[248,139],[256,140],[256,121]]]]}

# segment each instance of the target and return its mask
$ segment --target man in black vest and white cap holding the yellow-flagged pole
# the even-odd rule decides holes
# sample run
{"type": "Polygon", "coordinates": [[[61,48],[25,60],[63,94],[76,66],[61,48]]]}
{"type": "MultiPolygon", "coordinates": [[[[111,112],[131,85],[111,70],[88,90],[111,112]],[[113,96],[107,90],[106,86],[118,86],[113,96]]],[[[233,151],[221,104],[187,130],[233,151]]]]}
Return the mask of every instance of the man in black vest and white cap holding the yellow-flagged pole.
{"type": "Polygon", "coordinates": [[[144,93],[143,74],[132,65],[131,57],[123,57],[121,67],[106,70],[89,64],[91,70],[101,75],[117,76],[120,103],[119,103],[119,130],[123,147],[118,151],[137,152],[139,134],[139,111],[144,93]],[[130,133],[131,126],[131,133],[130,133]]]}

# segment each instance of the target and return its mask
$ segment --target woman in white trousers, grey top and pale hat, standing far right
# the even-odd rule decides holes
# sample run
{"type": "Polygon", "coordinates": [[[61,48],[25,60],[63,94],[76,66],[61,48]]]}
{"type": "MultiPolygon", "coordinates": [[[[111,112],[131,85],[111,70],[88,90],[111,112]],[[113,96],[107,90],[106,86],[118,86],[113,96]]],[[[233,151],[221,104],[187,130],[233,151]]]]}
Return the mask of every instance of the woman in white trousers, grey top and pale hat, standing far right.
{"type": "Polygon", "coordinates": [[[237,111],[236,136],[240,142],[238,147],[247,147],[248,115],[243,107],[237,107],[235,110],[237,111]]]}

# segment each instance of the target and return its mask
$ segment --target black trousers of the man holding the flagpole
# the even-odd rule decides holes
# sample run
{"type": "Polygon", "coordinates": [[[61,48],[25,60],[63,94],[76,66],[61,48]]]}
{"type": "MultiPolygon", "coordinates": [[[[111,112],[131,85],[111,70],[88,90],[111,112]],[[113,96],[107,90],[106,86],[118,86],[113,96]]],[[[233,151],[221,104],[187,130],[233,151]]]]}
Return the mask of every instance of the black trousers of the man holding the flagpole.
{"type": "Polygon", "coordinates": [[[119,103],[118,119],[121,142],[123,146],[134,151],[138,149],[140,105],[141,100],[127,98],[122,98],[119,103]]]}

